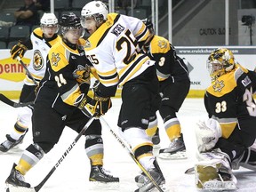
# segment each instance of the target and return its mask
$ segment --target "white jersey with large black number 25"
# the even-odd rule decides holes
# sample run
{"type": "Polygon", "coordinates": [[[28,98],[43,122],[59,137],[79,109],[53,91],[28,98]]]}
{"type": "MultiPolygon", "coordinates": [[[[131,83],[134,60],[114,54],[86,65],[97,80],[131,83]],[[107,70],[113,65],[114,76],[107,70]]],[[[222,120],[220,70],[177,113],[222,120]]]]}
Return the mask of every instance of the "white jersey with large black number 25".
{"type": "Polygon", "coordinates": [[[123,85],[154,65],[147,55],[139,53],[139,44],[148,38],[148,28],[133,17],[109,13],[89,38],[84,50],[106,87],[123,85]]]}

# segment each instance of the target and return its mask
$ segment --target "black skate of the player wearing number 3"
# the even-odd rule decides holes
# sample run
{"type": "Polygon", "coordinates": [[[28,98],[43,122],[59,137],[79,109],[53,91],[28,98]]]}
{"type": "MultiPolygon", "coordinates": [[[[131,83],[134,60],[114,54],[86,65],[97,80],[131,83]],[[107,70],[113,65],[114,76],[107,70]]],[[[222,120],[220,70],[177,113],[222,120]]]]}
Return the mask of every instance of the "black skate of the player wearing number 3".
{"type": "Polygon", "coordinates": [[[179,138],[171,141],[169,148],[159,150],[159,157],[163,159],[184,159],[187,158],[186,146],[182,134],[179,138]]]}

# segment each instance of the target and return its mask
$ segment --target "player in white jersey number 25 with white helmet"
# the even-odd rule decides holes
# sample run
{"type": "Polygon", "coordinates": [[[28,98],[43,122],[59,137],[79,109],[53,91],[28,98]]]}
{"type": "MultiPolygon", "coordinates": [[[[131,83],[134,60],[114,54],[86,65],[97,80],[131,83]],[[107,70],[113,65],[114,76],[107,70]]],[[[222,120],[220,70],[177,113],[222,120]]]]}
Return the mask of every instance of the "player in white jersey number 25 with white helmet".
{"type": "MultiPolygon", "coordinates": [[[[153,143],[145,132],[159,104],[154,61],[139,52],[148,38],[148,28],[137,18],[108,13],[106,4],[100,1],[84,5],[81,23],[91,35],[84,47],[85,54],[100,80],[95,95],[107,100],[115,96],[117,85],[123,87],[118,126],[140,164],[162,187],[164,175],[152,154],[153,143]]],[[[153,188],[151,180],[145,180],[136,191],[153,188]]]]}

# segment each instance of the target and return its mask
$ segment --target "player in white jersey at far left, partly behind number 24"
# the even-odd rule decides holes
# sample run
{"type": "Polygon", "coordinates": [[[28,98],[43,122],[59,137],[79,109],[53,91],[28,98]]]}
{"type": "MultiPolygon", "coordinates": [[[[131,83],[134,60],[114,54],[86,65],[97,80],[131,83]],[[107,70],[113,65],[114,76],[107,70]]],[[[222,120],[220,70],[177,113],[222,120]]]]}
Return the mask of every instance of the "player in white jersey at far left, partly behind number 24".
{"type": "MultiPolygon", "coordinates": [[[[37,84],[44,77],[48,51],[53,44],[60,41],[60,36],[57,35],[58,30],[56,16],[53,13],[44,13],[40,20],[40,28],[34,29],[28,39],[20,41],[11,49],[13,60],[16,60],[17,57],[23,58],[27,50],[32,50],[33,58],[28,65],[28,71],[37,84]]],[[[20,102],[35,100],[36,83],[28,75],[25,77],[20,94],[20,102]]],[[[31,106],[19,108],[17,121],[12,132],[6,135],[7,140],[0,144],[0,151],[7,152],[22,142],[26,132],[28,132],[28,126],[31,124],[31,108],[31,106]]]]}

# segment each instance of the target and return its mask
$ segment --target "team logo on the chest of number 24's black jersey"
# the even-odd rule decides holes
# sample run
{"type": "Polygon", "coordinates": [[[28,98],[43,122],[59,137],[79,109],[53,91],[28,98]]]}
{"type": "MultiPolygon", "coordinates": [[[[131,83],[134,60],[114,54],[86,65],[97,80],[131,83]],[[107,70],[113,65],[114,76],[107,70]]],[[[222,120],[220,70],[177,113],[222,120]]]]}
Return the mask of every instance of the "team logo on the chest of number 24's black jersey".
{"type": "Polygon", "coordinates": [[[90,84],[90,68],[89,66],[78,65],[76,70],[73,72],[74,78],[78,83],[88,83],[90,84]]]}

